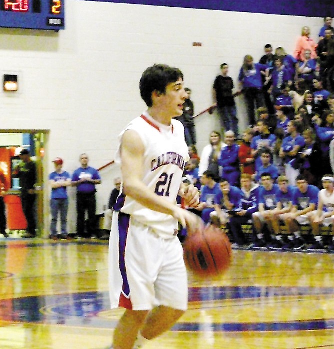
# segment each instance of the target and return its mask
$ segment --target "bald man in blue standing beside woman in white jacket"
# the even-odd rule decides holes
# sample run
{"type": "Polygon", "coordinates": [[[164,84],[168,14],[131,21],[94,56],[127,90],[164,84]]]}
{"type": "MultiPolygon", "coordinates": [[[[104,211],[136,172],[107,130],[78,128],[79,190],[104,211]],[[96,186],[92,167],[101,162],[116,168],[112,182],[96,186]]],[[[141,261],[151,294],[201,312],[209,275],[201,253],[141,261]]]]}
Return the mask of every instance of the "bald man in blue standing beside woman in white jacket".
{"type": "Polygon", "coordinates": [[[238,186],[240,177],[239,146],[235,144],[233,131],[226,131],[224,136],[226,146],[222,148],[218,165],[223,167],[222,177],[226,178],[230,185],[238,186]]]}

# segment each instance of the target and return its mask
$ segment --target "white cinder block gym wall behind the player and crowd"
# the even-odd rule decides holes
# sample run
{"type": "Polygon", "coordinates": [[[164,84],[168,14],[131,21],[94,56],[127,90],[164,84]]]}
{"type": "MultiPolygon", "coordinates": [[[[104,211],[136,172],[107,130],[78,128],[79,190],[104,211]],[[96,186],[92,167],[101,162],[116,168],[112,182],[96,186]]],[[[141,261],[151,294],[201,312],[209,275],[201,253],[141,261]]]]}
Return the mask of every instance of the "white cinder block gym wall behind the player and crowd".
{"type": "MultiPolygon", "coordinates": [[[[323,24],[322,18],[78,0],[66,1],[65,22],[59,33],[0,29],[0,74],[17,73],[20,84],[17,93],[0,92],[1,129],[49,130],[45,182],[56,156],[70,173],[82,152],[96,168],[114,159],[117,135],[145,108],[138,82],[147,66],[179,67],[199,113],[212,104],[212,83],[222,62],[230,65],[237,84],[244,55],[258,61],[266,43],[291,54],[303,25],[317,39],[323,24]]],[[[243,129],[241,99],[237,105],[243,129]]],[[[196,119],[199,151],[217,125],[213,115],[196,119]]],[[[117,175],[116,165],[101,171],[97,213],[107,204],[117,175]]],[[[44,188],[47,235],[50,189],[44,188]]],[[[69,230],[74,232],[74,189],[70,198],[69,230]]]]}

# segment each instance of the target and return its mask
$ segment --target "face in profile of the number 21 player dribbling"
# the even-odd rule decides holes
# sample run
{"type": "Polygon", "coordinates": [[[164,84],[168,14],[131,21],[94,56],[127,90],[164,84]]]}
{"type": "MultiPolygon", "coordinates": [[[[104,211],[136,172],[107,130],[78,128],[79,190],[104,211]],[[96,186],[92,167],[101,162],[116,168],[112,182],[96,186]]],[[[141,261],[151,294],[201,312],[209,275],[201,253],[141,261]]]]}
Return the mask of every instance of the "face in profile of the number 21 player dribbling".
{"type": "Polygon", "coordinates": [[[156,99],[159,103],[159,108],[166,114],[180,116],[183,113],[183,103],[188,97],[187,92],[183,87],[183,80],[179,78],[175,82],[171,82],[166,86],[166,92],[160,94],[156,99]]]}

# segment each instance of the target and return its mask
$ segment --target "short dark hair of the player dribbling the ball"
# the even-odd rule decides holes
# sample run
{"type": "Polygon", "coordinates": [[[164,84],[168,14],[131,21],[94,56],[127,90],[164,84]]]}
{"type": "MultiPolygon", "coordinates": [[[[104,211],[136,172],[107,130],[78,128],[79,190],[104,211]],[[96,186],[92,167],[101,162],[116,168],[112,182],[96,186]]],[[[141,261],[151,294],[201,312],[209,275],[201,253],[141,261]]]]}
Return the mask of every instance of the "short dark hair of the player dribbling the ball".
{"type": "Polygon", "coordinates": [[[154,64],[148,67],[139,81],[140,96],[148,107],[152,107],[152,92],[166,93],[166,86],[178,79],[183,80],[183,74],[178,68],[165,64],[154,64]]]}

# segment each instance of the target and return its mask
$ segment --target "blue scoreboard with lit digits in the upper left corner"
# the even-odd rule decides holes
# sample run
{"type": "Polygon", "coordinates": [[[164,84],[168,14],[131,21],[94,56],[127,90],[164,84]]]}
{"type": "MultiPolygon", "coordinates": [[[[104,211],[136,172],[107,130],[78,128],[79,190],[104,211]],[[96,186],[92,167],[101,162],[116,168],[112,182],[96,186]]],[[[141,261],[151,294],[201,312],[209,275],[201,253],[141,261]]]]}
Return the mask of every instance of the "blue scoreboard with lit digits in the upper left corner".
{"type": "Polygon", "coordinates": [[[0,0],[0,27],[65,29],[64,0],[0,0]]]}

